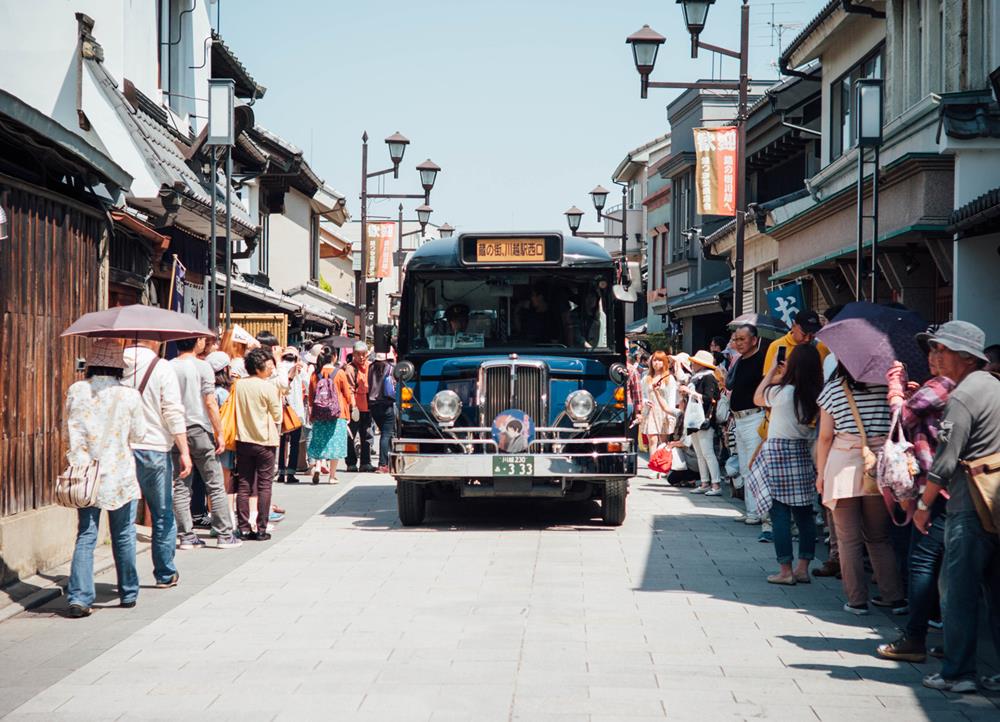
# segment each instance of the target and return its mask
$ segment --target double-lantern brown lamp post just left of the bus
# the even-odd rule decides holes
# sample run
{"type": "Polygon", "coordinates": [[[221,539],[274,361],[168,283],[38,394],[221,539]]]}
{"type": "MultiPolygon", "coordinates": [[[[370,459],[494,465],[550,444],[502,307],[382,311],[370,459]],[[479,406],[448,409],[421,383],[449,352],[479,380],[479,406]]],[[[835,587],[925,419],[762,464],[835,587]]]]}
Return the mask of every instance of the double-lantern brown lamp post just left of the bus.
{"type": "MultiPolygon", "coordinates": [[[[392,167],[369,173],[368,133],[365,132],[361,136],[361,267],[355,272],[354,303],[357,307],[355,326],[358,329],[358,334],[364,340],[367,340],[371,335],[372,328],[378,319],[378,279],[374,279],[374,282],[371,284],[371,291],[369,291],[368,283],[369,272],[371,271],[372,276],[375,275],[375,269],[371,267],[371,261],[375,260],[377,266],[377,260],[370,258],[371,240],[368,238],[368,200],[373,198],[421,198],[423,199],[423,204],[417,206],[416,212],[421,228],[424,228],[430,221],[433,210],[430,207],[431,189],[434,187],[437,174],[441,170],[440,166],[429,158],[417,166],[417,171],[420,173],[420,184],[424,189],[423,193],[369,193],[369,178],[377,178],[389,173],[392,173],[393,178],[399,178],[399,164],[403,161],[406,146],[410,144],[410,141],[405,136],[396,132],[385,139],[385,144],[389,148],[389,158],[392,160],[392,167]],[[371,296],[370,298],[369,295],[371,296]]],[[[400,208],[400,219],[402,219],[402,206],[400,208]]],[[[402,222],[400,222],[400,228],[402,228],[402,222]]],[[[400,230],[401,233],[402,231],[400,230]]],[[[399,241],[400,243],[402,242],[401,235],[399,241]]]]}

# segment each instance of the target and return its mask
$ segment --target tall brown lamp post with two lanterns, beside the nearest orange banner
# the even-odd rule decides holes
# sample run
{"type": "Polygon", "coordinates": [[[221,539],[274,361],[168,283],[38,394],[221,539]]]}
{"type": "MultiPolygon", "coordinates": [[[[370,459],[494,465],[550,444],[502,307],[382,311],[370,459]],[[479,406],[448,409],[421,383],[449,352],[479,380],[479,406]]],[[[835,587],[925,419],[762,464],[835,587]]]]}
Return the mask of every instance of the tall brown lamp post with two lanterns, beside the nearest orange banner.
{"type": "Polygon", "coordinates": [[[677,0],[684,9],[684,21],[691,34],[691,57],[698,57],[699,48],[735,58],[740,61],[739,82],[724,80],[704,80],[697,83],[653,82],[649,79],[656,64],[656,54],[666,40],[662,35],[643,25],[638,32],[629,35],[625,42],[632,46],[635,69],[641,79],[640,97],[645,98],[649,88],[679,90],[730,90],[739,93],[736,113],[736,247],[734,249],[733,314],[734,318],[743,313],[743,250],[746,237],[746,120],[748,115],[747,96],[750,91],[749,47],[750,47],[750,0],[742,0],[740,7],[740,49],[739,51],[718,45],[703,43],[699,36],[705,28],[708,11],[715,0],[677,0]]]}

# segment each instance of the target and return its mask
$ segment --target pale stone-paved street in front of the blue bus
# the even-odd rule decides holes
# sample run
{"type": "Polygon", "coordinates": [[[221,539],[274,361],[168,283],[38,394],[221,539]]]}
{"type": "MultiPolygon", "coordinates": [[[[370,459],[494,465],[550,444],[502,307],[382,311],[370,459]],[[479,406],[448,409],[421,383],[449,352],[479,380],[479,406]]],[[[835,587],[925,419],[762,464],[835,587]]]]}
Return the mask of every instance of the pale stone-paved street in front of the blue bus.
{"type": "Polygon", "coordinates": [[[872,656],[894,621],[844,614],[839,582],[764,583],[773,548],[726,500],[639,478],[620,529],[596,505],[504,502],[432,504],[411,530],[388,477],[330,505],[330,487],[279,491],[312,502],[301,526],[240,557],[180,554],[200,586],[172,605],[183,584],[144,590],[124,633],[114,609],[0,625],[4,665],[63,670],[9,719],[1000,718],[921,687],[936,663],[872,656]],[[89,640],[77,661],[46,657],[53,630],[89,640]]]}

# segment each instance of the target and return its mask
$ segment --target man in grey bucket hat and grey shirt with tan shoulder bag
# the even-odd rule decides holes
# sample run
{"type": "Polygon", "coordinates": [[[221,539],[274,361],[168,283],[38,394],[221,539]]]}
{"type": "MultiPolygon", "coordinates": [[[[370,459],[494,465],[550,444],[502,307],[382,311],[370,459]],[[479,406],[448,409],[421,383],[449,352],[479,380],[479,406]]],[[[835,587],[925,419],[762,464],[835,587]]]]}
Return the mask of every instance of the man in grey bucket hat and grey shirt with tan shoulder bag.
{"type": "MultiPolygon", "coordinates": [[[[920,334],[937,370],[955,382],[941,420],[938,447],[917,502],[913,524],[930,533],[932,508],[947,491],[944,530],[944,663],[924,677],[924,686],[951,692],[976,691],[978,622],[985,602],[993,648],[1000,649],[1000,537],[987,532],[976,510],[969,468],[1000,454],[1000,380],[982,370],[988,363],[986,335],[966,321],[949,321],[920,334]]],[[[1000,691],[1000,675],[979,686],[1000,691]]]]}

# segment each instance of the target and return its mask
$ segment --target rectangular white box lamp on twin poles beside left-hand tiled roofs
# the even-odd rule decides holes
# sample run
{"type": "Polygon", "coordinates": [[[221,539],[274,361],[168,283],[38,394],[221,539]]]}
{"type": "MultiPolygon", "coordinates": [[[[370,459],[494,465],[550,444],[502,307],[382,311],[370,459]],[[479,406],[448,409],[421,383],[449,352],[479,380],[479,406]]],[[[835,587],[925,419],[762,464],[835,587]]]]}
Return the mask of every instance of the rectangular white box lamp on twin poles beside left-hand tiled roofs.
{"type": "Polygon", "coordinates": [[[232,185],[233,185],[233,144],[236,142],[235,114],[236,83],[231,78],[210,78],[208,81],[208,129],[206,144],[212,148],[212,170],[208,179],[212,188],[212,231],[209,234],[209,264],[208,264],[208,327],[218,328],[216,304],[218,290],[215,283],[216,234],[215,234],[215,173],[219,146],[226,153],[226,328],[231,324],[232,292],[230,278],[233,272],[233,224],[232,224],[232,185]]]}

